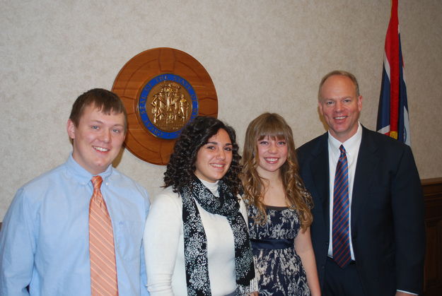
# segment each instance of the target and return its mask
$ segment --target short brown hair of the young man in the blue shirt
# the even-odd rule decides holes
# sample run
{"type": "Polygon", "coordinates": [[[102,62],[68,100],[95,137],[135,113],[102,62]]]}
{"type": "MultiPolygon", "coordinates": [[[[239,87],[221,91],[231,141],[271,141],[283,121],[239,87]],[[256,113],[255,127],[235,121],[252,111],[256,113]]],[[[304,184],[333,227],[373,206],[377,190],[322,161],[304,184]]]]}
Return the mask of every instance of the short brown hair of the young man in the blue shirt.
{"type": "Polygon", "coordinates": [[[112,93],[110,90],[103,88],[93,88],[77,97],[74,105],[72,105],[71,115],[69,116],[69,119],[74,122],[75,126],[78,127],[84,108],[89,105],[94,105],[104,114],[123,113],[124,131],[127,131],[127,112],[122,100],[120,100],[120,97],[118,97],[116,93],[112,93]]]}

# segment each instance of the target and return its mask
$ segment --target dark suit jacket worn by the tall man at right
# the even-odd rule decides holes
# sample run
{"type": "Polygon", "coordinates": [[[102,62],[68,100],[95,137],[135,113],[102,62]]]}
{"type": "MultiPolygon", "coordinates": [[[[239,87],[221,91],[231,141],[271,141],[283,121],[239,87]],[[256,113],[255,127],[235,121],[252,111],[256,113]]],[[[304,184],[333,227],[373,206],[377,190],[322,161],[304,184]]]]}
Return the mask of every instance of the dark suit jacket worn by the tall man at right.
{"type": "MultiPolygon", "coordinates": [[[[311,235],[321,286],[329,244],[328,133],[298,148],[301,176],[313,196],[311,235]]],[[[351,242],[366,295],[421,294],[424,198],[412,150],[363,127],[351,199],[351,242]]]]}

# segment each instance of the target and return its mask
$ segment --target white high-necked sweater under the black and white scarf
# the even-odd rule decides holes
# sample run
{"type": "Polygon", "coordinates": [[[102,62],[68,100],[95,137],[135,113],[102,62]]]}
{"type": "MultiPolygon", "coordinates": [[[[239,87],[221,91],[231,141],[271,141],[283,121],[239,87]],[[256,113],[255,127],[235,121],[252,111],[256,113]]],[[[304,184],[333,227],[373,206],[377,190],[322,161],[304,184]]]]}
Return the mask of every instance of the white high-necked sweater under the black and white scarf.
{"type": "MultiPolygon", "coordinates": [[[[202,183],[218,196],[218,184],[202,183]]],[[[222,215],[211,214],[197,203],[207,236],[207,257],[211,294],[226,295],[236,288],[233,232],[222,215]]],[[[245,203],[240,211],[247,221],[245,203]]],[[[153,199],[144,230],[147,289],[151,296],[187,295],[182,201],[172,187],[153,199]]]]}

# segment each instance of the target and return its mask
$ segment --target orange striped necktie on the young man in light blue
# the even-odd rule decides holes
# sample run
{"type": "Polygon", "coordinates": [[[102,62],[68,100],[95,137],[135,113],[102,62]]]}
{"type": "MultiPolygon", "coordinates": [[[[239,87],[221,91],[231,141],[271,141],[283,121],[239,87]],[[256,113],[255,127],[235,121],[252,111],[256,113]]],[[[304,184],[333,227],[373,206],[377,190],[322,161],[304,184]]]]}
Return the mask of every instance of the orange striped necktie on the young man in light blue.
{"type": "Polygon", "coordinates": [[[89,203],[89,254],[91,255],[91,295],[118,295],[112,221],[100,187],[103,179],[91,179],[93,194],[89,203]]]}

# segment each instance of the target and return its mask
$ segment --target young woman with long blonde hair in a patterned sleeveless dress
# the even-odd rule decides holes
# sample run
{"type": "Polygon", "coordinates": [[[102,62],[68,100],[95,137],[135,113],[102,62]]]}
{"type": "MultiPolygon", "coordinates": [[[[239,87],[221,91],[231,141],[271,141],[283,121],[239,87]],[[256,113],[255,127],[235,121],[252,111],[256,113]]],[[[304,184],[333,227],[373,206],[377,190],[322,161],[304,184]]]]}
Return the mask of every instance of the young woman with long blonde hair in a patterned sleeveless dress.
{"type": "Polygon", "coordinates": [[[250,122],[242,179],[260,295],[320,295],[312,198],[298,174],[291,128],[279,114],[250,122]]]}

